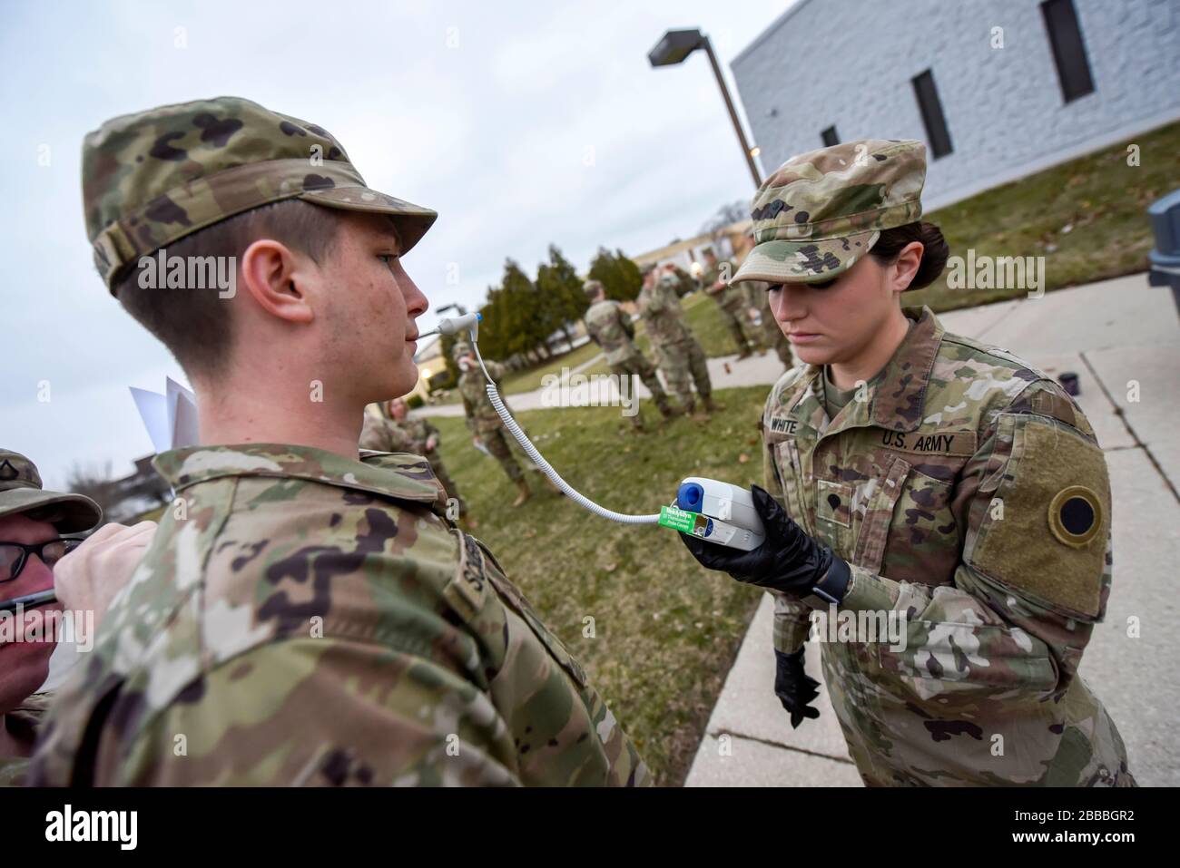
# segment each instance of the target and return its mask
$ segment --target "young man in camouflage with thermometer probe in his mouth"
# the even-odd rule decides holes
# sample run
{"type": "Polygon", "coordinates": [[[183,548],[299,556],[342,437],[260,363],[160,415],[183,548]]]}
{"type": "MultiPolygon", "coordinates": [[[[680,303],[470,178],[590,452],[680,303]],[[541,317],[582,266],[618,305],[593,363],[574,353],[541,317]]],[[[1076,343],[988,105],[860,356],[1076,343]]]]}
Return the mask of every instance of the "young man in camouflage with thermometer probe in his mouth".
{"type": "Polygon", "coordinates": [[[31,782],[648,782],[430,465],[358,460],[365,406],[418,376],[427,305],[400,256],[434,212],[366,188],[322,127],[229,97],[109,121],[83,166],[96,262],[179,357],[205,445],[156,458],[177,501],[31,782]],[[236,295],[138,290],[129,267],[165,245],[234,251],[236,295]]]}

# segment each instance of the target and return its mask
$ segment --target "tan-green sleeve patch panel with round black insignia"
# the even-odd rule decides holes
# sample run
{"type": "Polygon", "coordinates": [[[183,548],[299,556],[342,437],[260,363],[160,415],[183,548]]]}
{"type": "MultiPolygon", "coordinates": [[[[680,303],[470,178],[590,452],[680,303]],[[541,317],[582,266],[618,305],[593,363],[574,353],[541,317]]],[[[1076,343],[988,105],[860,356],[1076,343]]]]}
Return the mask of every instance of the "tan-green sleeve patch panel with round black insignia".
{"type": "Polygon", "coordinates": [[[1034,603],[1099,618],[1110,528],[1102,451],[1043,416],[1016,416],[1012,430],[1011,456],[969,563],[1034,603]]]}

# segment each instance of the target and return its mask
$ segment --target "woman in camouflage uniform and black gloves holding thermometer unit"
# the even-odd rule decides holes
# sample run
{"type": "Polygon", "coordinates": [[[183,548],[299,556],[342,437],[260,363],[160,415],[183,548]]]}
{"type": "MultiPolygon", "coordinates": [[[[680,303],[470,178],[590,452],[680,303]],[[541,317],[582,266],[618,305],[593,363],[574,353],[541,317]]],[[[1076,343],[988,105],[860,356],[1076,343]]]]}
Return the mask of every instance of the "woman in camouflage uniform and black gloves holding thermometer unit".
{"type": "Polygon", "coordinates": [[[1106,461],[1051,377],[945,333],[929,308],[897,307],[926,244],[942,243],[914,228],[924,153],[850,142],[792,158],[759,190],[759,245],[734,281],[776,285],[778,318],[809,336],[804,361],[837,359],[824,329],[863,303],[889,309],[880,328],[896,326],[899,343],[859,387],[835,386],[838,362],[819,361],[774,386],[762,416],[773,498],[755,486],[763,546],[686,540],[706,566],[773,591],[775,692],[794,725],[818,715],[802,670],[811,612],[899,619],[900,642],[822,646],[866,784],[1134,785],[1077,672],[1110,593],[1106,461]],[[897,248],[891,262],[864,257],[878,243],[897,248]]]}

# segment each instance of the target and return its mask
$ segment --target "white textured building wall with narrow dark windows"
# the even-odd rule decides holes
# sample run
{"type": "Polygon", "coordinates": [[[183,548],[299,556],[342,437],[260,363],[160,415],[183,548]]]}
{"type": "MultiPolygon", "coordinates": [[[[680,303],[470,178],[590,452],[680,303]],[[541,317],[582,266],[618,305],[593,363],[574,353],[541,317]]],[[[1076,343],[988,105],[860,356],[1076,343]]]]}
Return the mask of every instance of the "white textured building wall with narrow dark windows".
{"type": "Polygon", "coordinates": [[[1067,104],[1038,0],[800,0],[732,64],[763,173],[833,124],[929,147],[927,68],[953,147],[929,159],[927,210],[1180,117],[1180,0],[1074,8],[1094,92],[1067,104]]]}

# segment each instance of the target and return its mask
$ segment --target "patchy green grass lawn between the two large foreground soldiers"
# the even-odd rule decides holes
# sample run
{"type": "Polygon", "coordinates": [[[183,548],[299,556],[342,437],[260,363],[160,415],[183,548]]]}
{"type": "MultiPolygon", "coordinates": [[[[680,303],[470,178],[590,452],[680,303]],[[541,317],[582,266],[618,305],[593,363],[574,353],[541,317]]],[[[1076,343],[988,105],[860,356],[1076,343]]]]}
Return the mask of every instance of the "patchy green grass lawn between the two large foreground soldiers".
{"type": "MultiPolygon", "coordinates": [[[[761,481],[756,423],[766,394],[717,393],[726,410],[704,425],[677,419],[657,427],[655,407],[644,402],[653,430],[642,435],[617,408],[535,410],[518,421],[583,494],[618,512],[650,513],[688,475],[761,481]]],[[[539,474],[529,474],[533,498],[512,509],[516,491],[471,445],[463,420],[433,421],[480,522],[474,533],[586,668],[656,780],[682,783],[760,591],[697,566],[674,531],[596,518],[539,474]],[[594,638],[583,636],[586,617],[594,638]]]]}

